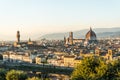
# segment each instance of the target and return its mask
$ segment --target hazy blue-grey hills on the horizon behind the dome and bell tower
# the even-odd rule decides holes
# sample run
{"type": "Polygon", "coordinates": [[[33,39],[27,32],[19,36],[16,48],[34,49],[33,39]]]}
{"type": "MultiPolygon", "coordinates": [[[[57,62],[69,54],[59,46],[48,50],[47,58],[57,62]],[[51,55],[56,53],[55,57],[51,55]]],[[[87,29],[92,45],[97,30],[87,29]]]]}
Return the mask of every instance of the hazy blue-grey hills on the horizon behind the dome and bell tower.
{"type": "MultiPolygon", "coordinates": [[[[74,38],[85,38],[86,33],[89,31],[89,29],[74,31],[74,38]]],[[[119,28],[95,28],[93,31],[96,33],[98,38],[104,38],[104,37],[120,37],[120,27],[119,28]]],[[[54,39],[54,40],[62,40],[64,36],[68,37],[69,32],[66,33],[53,33],[53,34],[46,34],[38,39],[54,39]]]]}

